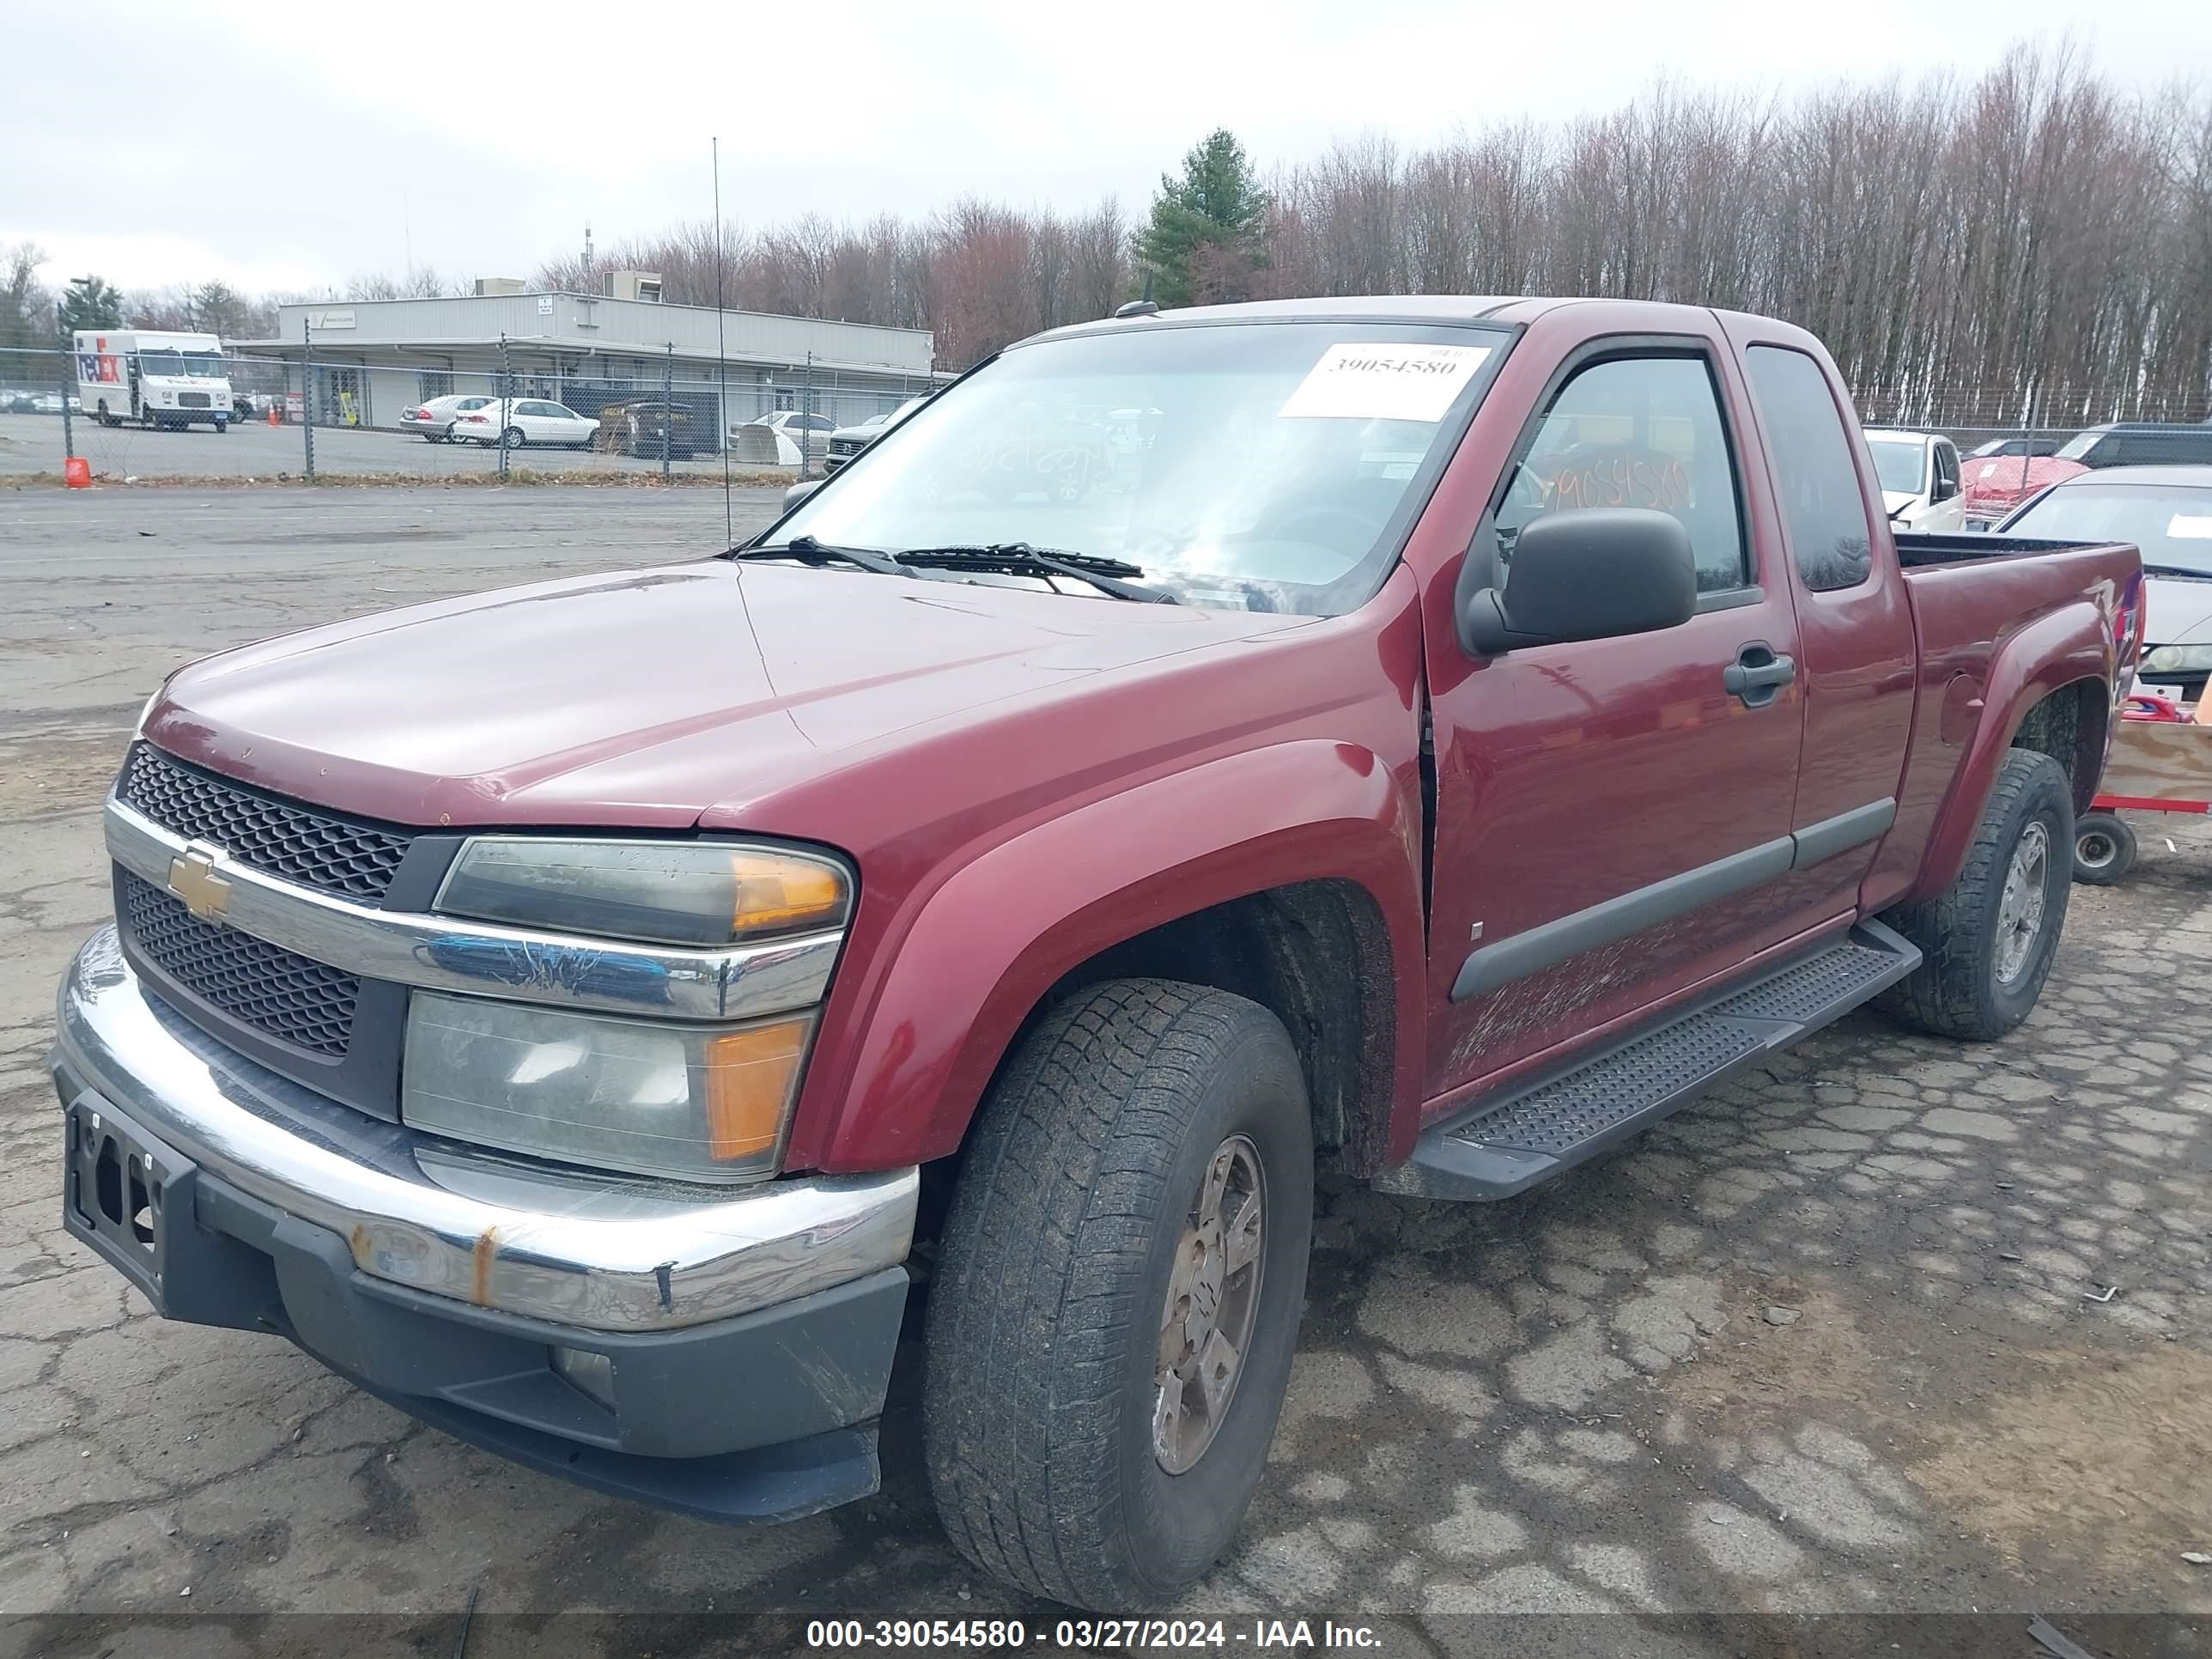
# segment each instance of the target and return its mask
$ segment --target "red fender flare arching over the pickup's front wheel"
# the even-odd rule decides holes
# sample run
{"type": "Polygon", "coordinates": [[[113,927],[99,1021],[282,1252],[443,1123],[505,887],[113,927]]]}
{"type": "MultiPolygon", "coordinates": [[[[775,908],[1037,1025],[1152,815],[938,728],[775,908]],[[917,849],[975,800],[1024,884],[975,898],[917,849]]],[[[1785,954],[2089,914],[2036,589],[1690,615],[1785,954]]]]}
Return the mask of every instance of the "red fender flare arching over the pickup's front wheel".
{"type": "Polygon", "coordinates": [[[816,1044],[832,1064],[810,1066],[785,1168],[958,1150],[1022,1022],[1071,969],[1210,905],[1327,878],[1365,889],[1389,936],[1396,1130],[1425,1051],[1420,814],[1374,750],[1298,739],[1088,801],[918,887],[838,975],[854,973],[849,998],[832,993],[816,1044]]]}

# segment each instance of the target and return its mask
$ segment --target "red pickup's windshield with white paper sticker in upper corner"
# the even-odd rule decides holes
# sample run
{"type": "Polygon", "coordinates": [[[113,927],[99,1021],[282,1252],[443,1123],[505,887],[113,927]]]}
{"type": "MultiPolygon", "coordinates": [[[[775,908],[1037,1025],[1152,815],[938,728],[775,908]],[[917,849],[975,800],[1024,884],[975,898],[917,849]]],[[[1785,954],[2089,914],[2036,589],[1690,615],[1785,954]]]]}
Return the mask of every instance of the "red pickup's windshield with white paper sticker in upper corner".
{"type": "Polygon", "coordinates": [[[776,542],[1029,542],[1141,566],[1190,604],[1338,615],[1464,427],[1504,334],[1225,323],[1042,341],[933,398],[776,542]]]}

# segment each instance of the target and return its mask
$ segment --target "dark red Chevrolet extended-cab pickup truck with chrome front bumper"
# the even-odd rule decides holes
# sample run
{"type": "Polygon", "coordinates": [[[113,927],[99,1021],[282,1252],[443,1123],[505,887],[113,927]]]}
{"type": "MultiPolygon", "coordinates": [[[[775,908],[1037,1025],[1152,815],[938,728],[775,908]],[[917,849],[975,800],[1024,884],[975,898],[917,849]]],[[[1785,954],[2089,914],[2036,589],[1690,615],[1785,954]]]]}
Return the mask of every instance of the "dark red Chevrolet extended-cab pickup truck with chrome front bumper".
{"type": "Polygon", "coordinates": [[[60,995],[69,1228],[721,1520],[872,1491],[918,1365],[960,1551],[1172,1595],[1316,1166],[1502,1199],[1860,1002],[2033,1009],[2137,553],[1900,549],[1849,407],[1694,307],[1126,316],[721,557],[195,664],[60,995]]]}

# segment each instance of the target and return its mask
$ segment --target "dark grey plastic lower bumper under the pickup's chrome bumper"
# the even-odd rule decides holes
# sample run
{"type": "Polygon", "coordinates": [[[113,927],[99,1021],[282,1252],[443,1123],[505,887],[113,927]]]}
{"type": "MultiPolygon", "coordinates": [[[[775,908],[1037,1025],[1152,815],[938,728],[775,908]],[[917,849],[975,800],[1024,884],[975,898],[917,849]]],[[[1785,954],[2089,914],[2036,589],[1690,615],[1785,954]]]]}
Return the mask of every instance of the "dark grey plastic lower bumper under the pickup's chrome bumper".
{"type": "Polygon", "coordinates": [[[55,1082],[62,1223],[168,1318],[274,1332],[460,1440],[706,1520],[796,1520],[876,1491],[905,1267],[681,1329],[522,1318],[358,1272],[336,1232],[55,1082]],[[557,1349],[608,1360],[593,1394],[555,1369],[557,1349]]]}

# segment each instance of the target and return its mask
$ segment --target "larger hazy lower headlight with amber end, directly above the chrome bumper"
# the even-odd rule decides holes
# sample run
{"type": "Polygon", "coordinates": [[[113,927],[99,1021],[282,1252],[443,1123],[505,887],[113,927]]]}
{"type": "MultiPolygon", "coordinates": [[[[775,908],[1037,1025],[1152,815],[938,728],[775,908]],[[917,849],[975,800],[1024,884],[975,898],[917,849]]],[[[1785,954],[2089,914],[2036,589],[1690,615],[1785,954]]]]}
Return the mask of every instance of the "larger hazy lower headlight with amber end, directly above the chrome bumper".
{"type": "Polygon", "coordinates": [[[686,1181],[774,1175],[812,1013],[672,1026],[416,991],[400,1119],[509,1152],[686,1181]]]}

